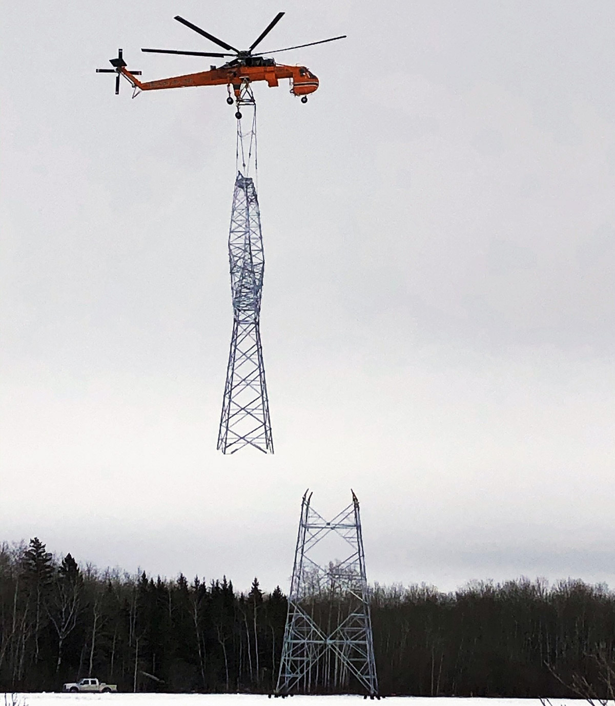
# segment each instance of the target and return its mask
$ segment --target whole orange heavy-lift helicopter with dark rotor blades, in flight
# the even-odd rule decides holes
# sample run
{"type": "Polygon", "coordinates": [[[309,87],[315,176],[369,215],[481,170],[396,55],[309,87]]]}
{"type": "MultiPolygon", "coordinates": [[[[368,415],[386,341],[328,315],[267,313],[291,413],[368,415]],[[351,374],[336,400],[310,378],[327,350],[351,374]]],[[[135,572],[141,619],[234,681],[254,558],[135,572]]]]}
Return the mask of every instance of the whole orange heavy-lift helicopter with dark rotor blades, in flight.
{"type": "Polygon", "coordinates": [[[335,40],[345,39],[346,35],[340,37],[331,37],[328,40],[320,42],[309,42],[309,44],[298,44],[295,47],[285,47],[285,49],[275,49],[274,52],[258,52],[253,54],[253,49],[265,38],[266,35],[277,25],[285,13],[279,12],[269,23],[267,28],[261,32],[261,35],[251,44],[249,49],[240,50],[232,47],[227,42],[222,42],[217,37],[210,35],[200,27],[193,25],[183,17],[175,17],[174,19],[186,25],[191,30],[206,37],[211,42],[214,42],[222,49],[227,49],[234,54],[221,54],[220,52],[181,52],[177,49],[141,49],[142,52],[150,52],[153,54],[183,54],[186,56],[211,56],[225,58],[232,57],[230,61],[223,64],[219,68],[211,66],[209,71],[199,71],[198,73],[187,73],[184,76],[172,76],[171,78],[163,78],[157,81],[146,81],[142,83],[137,76],[141,76],[141,71],[129,71],[126,68],[127,64],[122,57],[121,49],[118,50],[116,59],[109,59],[109,63],[114,68],[97,68],[97,73],[117,73],[115,80],[115,92],[119,93],[119,79],[124,76],[133,88],[139,90],[160,90],[162,88],[184,88],[186,86],[211,86],[211,85],[227,85],[229,97],[227,103],[232,105],[237,102],[239,113],[239,99],[241,90],[244,86],[249,85],[252,81],[267,81],[270,87],[277,86],[280,78],[288,78],[290,81],[290,92],[293,95],[301,96],[301,102],[306,103],[309,93],[313,93],[318,88],[318,78],[311,73],[306,66],[285,66],[284,64],[276,64],[273,59],[265,59],[263,54],[273,54],[279,52],[288,52],[290,49],[301,49],[302,47],[311,47],[314,44],[325,44],[326,42],[335,42],[335,40]],[[232,97],[234,94],[234,98],[232,97]]]}

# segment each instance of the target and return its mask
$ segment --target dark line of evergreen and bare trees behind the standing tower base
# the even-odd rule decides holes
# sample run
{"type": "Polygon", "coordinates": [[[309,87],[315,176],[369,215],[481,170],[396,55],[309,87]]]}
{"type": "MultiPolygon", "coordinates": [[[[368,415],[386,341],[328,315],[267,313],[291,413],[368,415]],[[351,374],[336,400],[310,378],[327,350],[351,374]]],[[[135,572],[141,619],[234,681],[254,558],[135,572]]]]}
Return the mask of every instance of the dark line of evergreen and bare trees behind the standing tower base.
{"type": "MultiPolygon", "coordinates": [[[[101,572],[36,537],[0,545],[0,692],[95,676],[121,691],[270,693],[287,599],[205,582],[101,572]]],[[[615,594],[567,580],[381,587],[371,598],[381,693],[565,697],[599,690],[615,657],[615,594]]]]}

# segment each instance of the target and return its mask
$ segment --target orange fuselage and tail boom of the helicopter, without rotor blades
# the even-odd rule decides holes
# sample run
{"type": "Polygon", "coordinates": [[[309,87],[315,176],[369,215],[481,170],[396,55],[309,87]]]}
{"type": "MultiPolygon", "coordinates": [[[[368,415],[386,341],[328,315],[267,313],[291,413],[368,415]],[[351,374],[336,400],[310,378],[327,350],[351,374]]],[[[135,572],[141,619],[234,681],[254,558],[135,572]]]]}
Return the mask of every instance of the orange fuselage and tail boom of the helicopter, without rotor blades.
{"type": "Polygon", "coordinates": [[[305,66],[275,64],[273,59],[262,59],[256,56],[234,59],[220,68],[212,67],[210,71],[186,73],[184,76],[172,76],[157,81],[140,81],[125,66],[121,66],[119,71],[140,90],[229,85],[234,95],[239,97],[241,85],[246,81],[266,81],[267,85],[273,88],[279,85],[280,78],[290,80],[290,92],[293,95],[308,95],[318,88],[318,78],[305,66]]]}

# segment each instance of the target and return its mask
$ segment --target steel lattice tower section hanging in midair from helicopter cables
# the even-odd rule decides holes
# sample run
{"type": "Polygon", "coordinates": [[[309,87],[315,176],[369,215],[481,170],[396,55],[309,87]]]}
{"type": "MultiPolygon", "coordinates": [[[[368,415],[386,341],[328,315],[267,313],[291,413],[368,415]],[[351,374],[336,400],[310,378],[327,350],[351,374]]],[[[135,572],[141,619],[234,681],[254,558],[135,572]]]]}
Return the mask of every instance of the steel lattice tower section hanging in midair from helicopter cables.
{"type": "Polygon", "coordinates": [[[229,231],[233,335],[217,448],[235,453],[246,445],[273,453],[269,400],[259,330],[263,289],[263,237],[251,177],[237,173],[229,231]]]}

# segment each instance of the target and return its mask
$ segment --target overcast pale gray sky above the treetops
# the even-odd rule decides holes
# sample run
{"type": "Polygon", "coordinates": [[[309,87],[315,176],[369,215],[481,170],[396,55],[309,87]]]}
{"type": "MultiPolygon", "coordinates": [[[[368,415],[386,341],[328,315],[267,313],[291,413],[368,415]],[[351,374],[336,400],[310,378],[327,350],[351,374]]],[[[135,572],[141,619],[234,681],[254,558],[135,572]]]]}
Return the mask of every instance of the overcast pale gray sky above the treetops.
{"type": "Polygon", "coordinates": [[[615,584],[615,4],[3,4],[0,539],[287,590],[306,487],[368,578],[615,584]],[[215,450],[232,330],[226,89],[256,84],[276,453],[215,450]],[[266,46],[265,46],[266,44],[266,46]]]}

